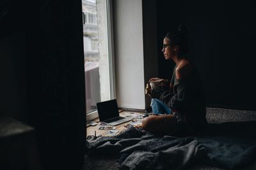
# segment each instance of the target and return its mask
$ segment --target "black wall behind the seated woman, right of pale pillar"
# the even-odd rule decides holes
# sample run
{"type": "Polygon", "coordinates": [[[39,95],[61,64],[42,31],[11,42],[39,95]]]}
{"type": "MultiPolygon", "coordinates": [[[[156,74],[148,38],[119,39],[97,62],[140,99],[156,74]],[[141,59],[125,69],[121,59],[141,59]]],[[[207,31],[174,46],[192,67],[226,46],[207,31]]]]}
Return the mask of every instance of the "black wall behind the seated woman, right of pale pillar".
{"type": "Polygon", "coordinates": [[[174,63],[161,48],[166,32],[189,29],[189,57],[200,72],[207,106],[256,110],[255,10],[252,1],[157,1],[159,76],[174,63]]]}

